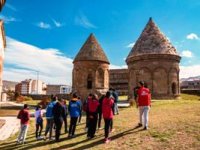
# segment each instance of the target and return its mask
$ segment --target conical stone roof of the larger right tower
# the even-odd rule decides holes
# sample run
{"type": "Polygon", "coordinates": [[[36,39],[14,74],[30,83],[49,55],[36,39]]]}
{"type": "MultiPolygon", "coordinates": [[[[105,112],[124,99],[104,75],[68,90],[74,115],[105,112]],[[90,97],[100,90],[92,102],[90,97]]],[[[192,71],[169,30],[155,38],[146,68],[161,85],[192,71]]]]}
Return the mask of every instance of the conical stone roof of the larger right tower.
{"type": "Polygon", "coordinates": [[[161,33],[152,18],[149,19],[139,39],[136,41],[127,59],[144,54],[172,54],[178,55],[176,49],[167,37],[161,33]]]}

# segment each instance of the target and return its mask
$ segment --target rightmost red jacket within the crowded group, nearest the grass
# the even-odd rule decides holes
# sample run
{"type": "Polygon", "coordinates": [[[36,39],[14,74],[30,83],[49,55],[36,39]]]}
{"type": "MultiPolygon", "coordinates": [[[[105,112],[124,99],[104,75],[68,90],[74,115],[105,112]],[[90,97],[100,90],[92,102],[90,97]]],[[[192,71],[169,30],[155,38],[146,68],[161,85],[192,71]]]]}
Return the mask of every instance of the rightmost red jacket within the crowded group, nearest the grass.
{"type": "Polygon", "coordinates": [[[102,114],[105,119],[113,118],[114,100],[112,98],[105,97],[102,102],[102,114]]]}

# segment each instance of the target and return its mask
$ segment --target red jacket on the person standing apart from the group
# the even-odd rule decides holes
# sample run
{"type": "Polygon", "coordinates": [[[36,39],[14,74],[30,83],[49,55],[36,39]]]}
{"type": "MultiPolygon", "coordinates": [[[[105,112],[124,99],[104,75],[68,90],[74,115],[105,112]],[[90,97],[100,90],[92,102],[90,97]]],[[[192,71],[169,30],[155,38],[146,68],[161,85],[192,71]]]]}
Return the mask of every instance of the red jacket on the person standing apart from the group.
{"type": "Polygon", "coordinates": [[[151,93],[148,88],[140,87],[137,91],[137,94],[138,94],[138,106],[151,105],[151,93]]]}

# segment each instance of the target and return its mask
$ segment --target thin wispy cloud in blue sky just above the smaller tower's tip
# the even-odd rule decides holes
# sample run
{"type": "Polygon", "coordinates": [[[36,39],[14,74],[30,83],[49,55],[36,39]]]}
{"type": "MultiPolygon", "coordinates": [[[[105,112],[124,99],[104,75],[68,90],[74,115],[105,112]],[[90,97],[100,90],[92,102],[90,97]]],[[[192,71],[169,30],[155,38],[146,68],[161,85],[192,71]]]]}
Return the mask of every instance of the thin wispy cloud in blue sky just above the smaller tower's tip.
{"type": "Polygon", "coordinates": [[[94,24],[90,22],[90,20],[84,15],[80,14],[79,16],[75,17],[75,24],[82,26],[84,28],[97,28],[94,24]]]}

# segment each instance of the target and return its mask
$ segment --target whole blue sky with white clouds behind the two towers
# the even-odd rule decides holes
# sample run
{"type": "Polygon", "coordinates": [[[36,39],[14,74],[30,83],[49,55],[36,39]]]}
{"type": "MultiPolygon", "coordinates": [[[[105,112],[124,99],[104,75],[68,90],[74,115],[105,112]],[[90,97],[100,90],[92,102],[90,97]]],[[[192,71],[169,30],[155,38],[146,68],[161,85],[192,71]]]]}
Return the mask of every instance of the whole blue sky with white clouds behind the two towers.
{"type": "Polygon", "coordinates": [[[181,77],[200,75],[199,0],[7,0],[4,79],[71,84],[72,59],[90,33],[111,68],[125,67],[149,17],[182,56],[181,77]]]}

